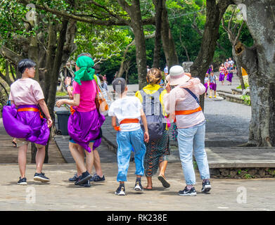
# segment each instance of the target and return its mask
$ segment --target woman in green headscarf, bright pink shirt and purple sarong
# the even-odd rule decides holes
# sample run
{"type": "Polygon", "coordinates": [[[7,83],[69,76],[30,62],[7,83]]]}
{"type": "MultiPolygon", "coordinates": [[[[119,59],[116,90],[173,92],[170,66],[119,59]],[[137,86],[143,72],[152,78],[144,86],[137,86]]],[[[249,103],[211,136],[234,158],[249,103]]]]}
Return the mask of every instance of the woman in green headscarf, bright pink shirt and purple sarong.
{"type": "Polygon", "coordinates": [[[101,143],[101,125],[105,117],[98,113],[96,108],[96,93],[98,86],[94,77],[94,61],[89,56],[80,56],[76,62],[75,81],[73,86],[73,99],[60,99],[56,105],[72,105],[71,115],[68,120],[68,133],[71,137],[69,148],[77,168],[82,172],[75,185],[84,185],[91,179],[91,174],[85,167],[84,158],[79,153],[81,146],[86,151],[87,164],[93,166],[95,149],[101,143]]]}

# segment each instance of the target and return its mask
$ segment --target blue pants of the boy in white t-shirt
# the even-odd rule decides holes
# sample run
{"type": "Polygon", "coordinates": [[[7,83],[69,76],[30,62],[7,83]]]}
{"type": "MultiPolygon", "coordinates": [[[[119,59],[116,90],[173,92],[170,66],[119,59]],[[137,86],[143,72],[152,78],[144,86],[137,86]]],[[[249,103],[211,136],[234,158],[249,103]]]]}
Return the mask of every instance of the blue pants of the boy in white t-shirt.
{"type": "Polygon", "coordinates": [[[143,160],[146,146],[143,141],[143,131],[118,131],[117,132],[117,181],[127,181],[127,172],[131,157],[132,146],[134,148],[134,162],[136,163],[136,175],[143,176],[143,160]]]}

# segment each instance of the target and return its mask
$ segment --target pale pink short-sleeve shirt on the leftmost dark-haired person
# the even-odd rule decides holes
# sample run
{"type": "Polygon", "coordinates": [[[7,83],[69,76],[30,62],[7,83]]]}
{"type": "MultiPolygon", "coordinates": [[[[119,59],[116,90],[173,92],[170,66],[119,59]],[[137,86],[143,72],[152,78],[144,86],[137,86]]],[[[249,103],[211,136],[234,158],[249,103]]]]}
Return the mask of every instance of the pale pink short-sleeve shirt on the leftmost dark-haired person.
{"type": "Polygon", "coordinates": [[[44,99],[44,94],[36,80],[18,79],[11,84],[8,100],[14,101],[15,105],[37,105],[41,99],[44,99]]]}

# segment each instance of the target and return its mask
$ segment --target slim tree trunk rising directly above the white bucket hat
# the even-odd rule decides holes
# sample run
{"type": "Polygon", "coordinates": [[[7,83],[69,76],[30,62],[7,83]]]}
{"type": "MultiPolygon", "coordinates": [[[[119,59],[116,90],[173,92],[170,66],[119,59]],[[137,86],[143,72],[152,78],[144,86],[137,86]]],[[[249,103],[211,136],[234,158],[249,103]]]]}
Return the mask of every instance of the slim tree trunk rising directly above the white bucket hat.
{"type": "Polygon", "coordinates": [[[179,59],[177,56],[177,51],[174,46],[174,39],[170,30],[167,8],[165,7],[166,0],[162,1],[162,27],[161,27],[161,37],[162,37],[162,46],[165,52],[166,63],[168,68],[171,68],[173,65],[179,65],[179,59]]]}

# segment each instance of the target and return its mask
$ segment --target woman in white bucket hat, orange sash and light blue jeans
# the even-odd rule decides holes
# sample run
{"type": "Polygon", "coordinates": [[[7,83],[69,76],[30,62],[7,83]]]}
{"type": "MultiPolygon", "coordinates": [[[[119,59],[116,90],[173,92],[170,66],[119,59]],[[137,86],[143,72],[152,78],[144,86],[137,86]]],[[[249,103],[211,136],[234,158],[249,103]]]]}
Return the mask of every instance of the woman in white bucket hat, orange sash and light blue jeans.
{"type": "Polygon", "coordinates": [[[200,79],[191,78],[184,73],[184,68],[174,65],[167,76],[167,94],[164,96],[165,111],[170,113],[170,120],[177,123],[179,156],[184,170],[186,187],[179,195],[196,195],[193,185],[196,176],[193,169],[193,154],[196,158],[200,178],[203,180],[202,192],[209,192],[210,172],[205,153],[205,116],[200,108],[199,96],[205,93],[205,86],[200,79]]]}

